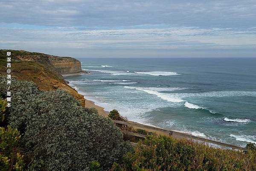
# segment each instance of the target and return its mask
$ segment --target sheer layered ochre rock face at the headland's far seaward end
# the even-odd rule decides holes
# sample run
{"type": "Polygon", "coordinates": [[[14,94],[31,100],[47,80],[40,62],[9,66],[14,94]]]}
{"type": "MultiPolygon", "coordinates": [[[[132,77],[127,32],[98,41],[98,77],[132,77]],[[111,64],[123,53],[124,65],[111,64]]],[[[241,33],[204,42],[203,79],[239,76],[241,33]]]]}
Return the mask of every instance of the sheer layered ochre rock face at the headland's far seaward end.
{"type": "Polygon", "coordinates": [[[71,74],[82,72],[80,61],[69,57],[49,57],[49,61],[60,74],[71,74]]]}

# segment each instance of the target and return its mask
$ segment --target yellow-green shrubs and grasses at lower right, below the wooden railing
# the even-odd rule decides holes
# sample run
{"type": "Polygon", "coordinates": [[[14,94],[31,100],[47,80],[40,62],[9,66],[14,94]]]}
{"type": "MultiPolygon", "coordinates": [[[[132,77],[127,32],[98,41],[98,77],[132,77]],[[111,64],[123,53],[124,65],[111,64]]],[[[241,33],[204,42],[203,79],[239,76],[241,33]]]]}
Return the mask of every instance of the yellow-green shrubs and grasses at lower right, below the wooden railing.
{"type": "Polygon", "coordinates": [[[123,171],[255,171],[256,153],[221,150],[167,136],[148,136],[124,156],[123,171]]]}

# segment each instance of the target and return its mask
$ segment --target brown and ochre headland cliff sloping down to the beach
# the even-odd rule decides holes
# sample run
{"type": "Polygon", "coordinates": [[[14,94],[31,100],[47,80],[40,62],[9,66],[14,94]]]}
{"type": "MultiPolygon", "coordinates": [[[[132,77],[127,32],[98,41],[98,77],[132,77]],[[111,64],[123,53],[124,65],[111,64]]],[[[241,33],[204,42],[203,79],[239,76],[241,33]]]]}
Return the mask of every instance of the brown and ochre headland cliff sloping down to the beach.
{"type": "Polygon", "coordinates": [[[40,90],[65,90],[86,106],[84,96],[70,87],[61,75],[80,72],[80,61],[37,52],[0,50],[0,75],[6,75],[6,52],[12,53],[12,76],[23,81],[33,81],[40,90]]]}

